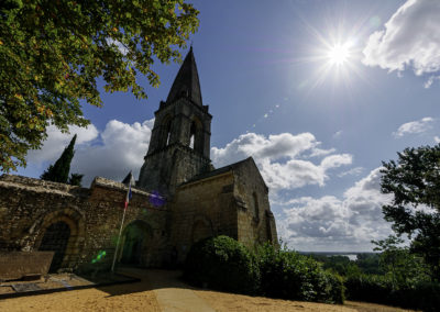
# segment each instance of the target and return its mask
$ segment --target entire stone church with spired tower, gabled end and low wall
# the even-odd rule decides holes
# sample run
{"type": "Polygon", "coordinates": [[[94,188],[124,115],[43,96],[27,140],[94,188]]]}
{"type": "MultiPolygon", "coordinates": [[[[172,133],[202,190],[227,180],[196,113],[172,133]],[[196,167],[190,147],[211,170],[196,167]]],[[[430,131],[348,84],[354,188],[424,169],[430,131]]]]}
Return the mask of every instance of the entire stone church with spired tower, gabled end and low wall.
{"type": "MultiPolygon", "coordinates": [[[[277,243],[268,189],[252,157],[215,169],[211,120],[193,48],[155,112],[148,151],[125,214],[118,263],[182,263],[205,237],[277,243]]],[[[111,264],[129,179],[90,188],[0,177],[0,250],[55,250],[51,270],[111,264]],[[125,183],[124,183],[125,182],[125,183]]]]}

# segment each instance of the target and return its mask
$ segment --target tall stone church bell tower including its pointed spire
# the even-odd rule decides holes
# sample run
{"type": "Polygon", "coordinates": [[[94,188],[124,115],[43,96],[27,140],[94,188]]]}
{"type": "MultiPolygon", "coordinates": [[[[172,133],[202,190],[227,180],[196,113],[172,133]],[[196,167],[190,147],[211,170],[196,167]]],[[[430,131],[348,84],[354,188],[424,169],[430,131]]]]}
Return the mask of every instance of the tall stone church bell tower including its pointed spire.
{"type": "Polygon", "coordinates": [[[190,47],[166,101],[161,101],[138,186],[172,196],[176,187],[210,169],[211,119],[202,104],[190,47]]]}

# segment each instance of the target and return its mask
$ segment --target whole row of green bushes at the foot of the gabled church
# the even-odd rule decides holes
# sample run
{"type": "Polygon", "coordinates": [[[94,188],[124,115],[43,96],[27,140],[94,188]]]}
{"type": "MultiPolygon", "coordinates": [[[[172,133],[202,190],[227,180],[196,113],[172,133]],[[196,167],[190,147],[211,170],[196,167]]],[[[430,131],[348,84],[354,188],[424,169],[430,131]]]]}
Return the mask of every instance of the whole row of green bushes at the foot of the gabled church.
{"type": "Polygon", "coordinates": [[[343,282],[314,259],[265,244],[250,253],[228,236],[193,245],[184,278],[213,289],[274,298],[343,302],[343,282]]]}

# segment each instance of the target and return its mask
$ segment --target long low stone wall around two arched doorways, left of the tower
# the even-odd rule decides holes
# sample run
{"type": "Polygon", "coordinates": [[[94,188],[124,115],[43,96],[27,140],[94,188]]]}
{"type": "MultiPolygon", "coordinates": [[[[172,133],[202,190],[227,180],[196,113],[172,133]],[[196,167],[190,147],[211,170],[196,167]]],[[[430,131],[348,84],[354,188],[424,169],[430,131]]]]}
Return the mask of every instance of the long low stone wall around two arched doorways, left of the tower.
{"type": "MultiPolygon", "coordinates": [[[[167,260],[166,204],[151,203],[151,194],[133,189],[124,229],[142,222],[148,229],[141,260],[160,266],[167,260]]],[[[80,188],[20,176],[0,177],[0,250],[37,250],[46,230],[56,222],[69,227],[63,267],[111,263],[121,224],[127,187],[96,178],[80,188]],[[103,253],[105,252],[105,253],[103,253]],[[99,255],[101,255],[99,257],[99,255]]]]}

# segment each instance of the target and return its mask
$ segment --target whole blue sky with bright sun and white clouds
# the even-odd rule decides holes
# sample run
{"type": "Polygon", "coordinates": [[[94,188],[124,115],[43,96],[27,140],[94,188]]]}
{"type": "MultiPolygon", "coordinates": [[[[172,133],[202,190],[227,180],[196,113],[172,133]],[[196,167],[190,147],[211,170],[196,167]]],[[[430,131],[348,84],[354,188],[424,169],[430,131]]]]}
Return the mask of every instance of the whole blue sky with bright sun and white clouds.
{"type": "MultiPolygon", "coordinates": [[[[278,236],[301,252],[371,252],[391,224],[382,160],[440,143],[440,1],[193,1],[191,36],[204,104],[213,115],[211,159],[249,156],[270,187],[278,236]]],[[[183,55],[188,49],[182,51],[183,55]]],[[[15,174],[38,177],[78,134],[70,172],[138,177],[154,111],[178,64],[156,63],[147,100],[106,93],[84,105],[88,129],[50,127],[15,174]]]]}

